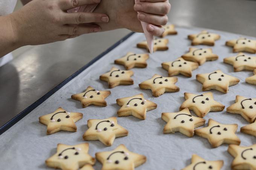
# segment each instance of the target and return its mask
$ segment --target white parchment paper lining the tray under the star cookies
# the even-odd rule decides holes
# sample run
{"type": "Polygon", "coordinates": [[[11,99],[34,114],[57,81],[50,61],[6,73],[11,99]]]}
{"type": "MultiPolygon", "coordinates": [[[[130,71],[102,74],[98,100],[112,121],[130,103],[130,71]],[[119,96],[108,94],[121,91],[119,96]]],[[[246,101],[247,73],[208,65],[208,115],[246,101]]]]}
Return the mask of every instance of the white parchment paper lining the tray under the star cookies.
{"type": "MultiPolygon", "coordinates": [[[[88,142],[90,143],[89,153],[93,156],[96,152],[113,150],[119,144],[125,144],[132,152],[146,155],[146,163],[136,168],[137,170],[167,170],[173,168],[179,170],[190,164],[193,153],[208,160],[222,159],[224,160],[222,170],[230,169],[233,157],[227,152],[227,144],[212,149],[206,139],[196,135],[189,138],[179,132],[175,134],[163,134],[163,127],[166,123],[161,119],[161,113],[177,112],[181,103],[184,101],[184,92],[203,93],[201,90],[202,84],[195,79],[195,75],[213,72],[216,69],[221,69],[223,72],[238,77],[241,80],[239,84],[230,87],[227,94],[212,90],[211,92],[214,93],[216,101],[228,107],[235,102],[236,95],[255,98],[256,86],[245,83],[245,78],[253,75],[253,73],[249,71],[233,72],[231,65],[223,63],[224,57],[236,55],[236,53],[232,53],[232,48],[225,46],[225,42],[230,39],[239,38],[241,35],[207,29],[210,32],[221,35],[221,39],[216,41],[215,46],[212,47],[213,53],[218,54],[219,59],[213,62],[206,62],[200,66],[193,71],[193,77],[191,78],[182,75],[177,76],[178,82],[176,85],[180,87],[180,92],[165,93],[158,98],[154,98],[151,90],[141,90],[138,86],[139,83],[151,78],[154,74],[167,76],[168,72],[162,69],[161,63],[175,60],[182,54],[187,53],[191,43],[187,39],[187,35],[199,33],[201,30],[204,29],[178,27],[178,35],[167,36],[166,38],[169,39],[169,50],[157,51],[150,55],[147,68],[132,69],[134,71],[134,76],[132,77],[134,85],[117,86],[114,89],[110,89],[111,95],[106,99],[107,107],[89,106],[82,108],[79,101],[70,99],[72,94],[83,92],[87,86],[92,86],[98,90],[108,89],[107,83],[100,81],[99,76],[108,72],[112,66],[124,69],[121,65],[114,65],[115,59],[124,56],[129,51],[138,54],[147,52],[146,50],[136,48],[137,42],[144,41],[145,37],[143,34],[135,33],[63,86],[58,92],[35,108],[35,110],[12,126],[8,131],[0,135],[0,168],[5,170],[49,169],[44,161],[56,153],[58,143],[73,145],[88,142]],[[111,116],[117,116],[116,112],[120,107],[116,104],[116,99],[133,96],[138,93],[143,93],[146,99],[157,103],[158,107],[155,110],[147,112],[146,120],[139,120],[133,116],[119,117],[118,123],[128,129],[128,136],[116,138],[113,146],[110,147],[106,147],[100,141],[84,141],[82,139],[82,135],[88,129],[88,119],[105,119],[111,116]],[[52,113],[58,107],[63,107],[70,112],[84,113],[83,119],[76,123],[78,127],[77,132],[61,131],[52,135],[46,135],[46,126],[38,121],[38,117],[52,113]]],[[[248,36],[245,37],[251,38],[248,36]]],[[[208,46],[198,45],[196,47],[203,48],[208,46]]],[[[250,55],[255,56],[255,54],[250,55]]],[[[205,126],[207,126],[209,118],[220,123],[238,123],[238,131],[240,131],[241,126],[248,124],[240,115],[227,113],[226,108],[221,112],[210,112],[207,114],[204,117],[206,119],[205,126]]],[[[237,132],[237,135],[242,141],[242,146],[249,146],[256,141],[255,137],[242,134],[241,132],[237,132]]],[[[96,170],[101,169],[101,167],[99,162],[94,166],[96,170]]]]}

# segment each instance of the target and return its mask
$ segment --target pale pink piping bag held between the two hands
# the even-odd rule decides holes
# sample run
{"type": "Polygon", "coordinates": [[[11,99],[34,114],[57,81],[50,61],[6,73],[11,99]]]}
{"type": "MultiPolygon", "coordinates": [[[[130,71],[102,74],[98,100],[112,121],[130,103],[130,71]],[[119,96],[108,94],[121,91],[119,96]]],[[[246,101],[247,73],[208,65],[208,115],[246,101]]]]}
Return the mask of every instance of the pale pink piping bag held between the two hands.
{"type": "MultiPolygon", "coordinates": [[[[135,0],[136,4],[138,4],[139,2],[140,2],[140,0],[135,0]]],[[[93,12],[94,9],[97,7],[97,5],[79,6],[77,8],[70,9],[67,12],[93,12]]],[[[153,35],[151,33],[149,33],[148,30],[147,30],[148,23],[145,23],[143,21],[140,21],[140,23],[142,25],[142,29],[143,29],[144,34],[145,34],[145,38],[146,38],[146,41],[147,41],[147,44],[148,44],[149,52],[150,52],[150,54],[152,54],[153,46],[154,46],[153,35]]]]}

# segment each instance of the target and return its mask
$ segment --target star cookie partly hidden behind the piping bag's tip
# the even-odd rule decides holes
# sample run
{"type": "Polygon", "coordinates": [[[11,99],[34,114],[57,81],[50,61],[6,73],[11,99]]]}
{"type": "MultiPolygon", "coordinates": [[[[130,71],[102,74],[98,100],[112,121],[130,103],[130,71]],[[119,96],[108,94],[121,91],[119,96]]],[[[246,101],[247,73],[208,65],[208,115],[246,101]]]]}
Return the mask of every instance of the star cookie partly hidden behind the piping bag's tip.
{"type": "MultiPolygon", "coordinates": [[[[153,47],[153,51],[157,51],[157,50],[168,50],[168,44],[169,40],[168,39],[162,39],[162,38],[155,38],[154,39],[154,47],[153,47]]],[[[148,51],[148,44],[146,41],[142,41],[139,42],[137,44],[138,48],[146,48],[148,51]]]]}

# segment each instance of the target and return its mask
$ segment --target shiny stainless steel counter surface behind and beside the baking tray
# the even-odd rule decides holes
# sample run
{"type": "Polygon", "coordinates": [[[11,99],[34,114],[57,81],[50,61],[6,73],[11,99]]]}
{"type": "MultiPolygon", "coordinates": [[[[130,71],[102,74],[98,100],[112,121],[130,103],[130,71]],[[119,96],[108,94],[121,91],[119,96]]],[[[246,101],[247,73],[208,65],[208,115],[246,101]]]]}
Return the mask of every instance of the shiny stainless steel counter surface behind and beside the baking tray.
{"type": "MultiPolygon", "coordinates": [[[[177,26],[256,36],[256,1],[171,0],[171,4],[169,21],[177,26]]],[[[27,48],[0,68],[0,126],[128,33],[114,30],[27,48]]]]}

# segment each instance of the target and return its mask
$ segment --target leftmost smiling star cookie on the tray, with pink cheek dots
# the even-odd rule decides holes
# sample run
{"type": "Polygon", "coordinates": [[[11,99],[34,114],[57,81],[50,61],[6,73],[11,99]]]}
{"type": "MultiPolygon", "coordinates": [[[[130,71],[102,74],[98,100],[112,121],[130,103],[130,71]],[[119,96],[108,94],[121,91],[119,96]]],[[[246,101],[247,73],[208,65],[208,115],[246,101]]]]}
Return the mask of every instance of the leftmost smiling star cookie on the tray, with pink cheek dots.
{"type": "Polygon", "coordinates": [[[53,113],[39,117],[39,122],[47,126],[47,135],[58,131],[76,132],[75,122],[82,119],[83,114],[68,112],[59,107],[53,113]]]}

